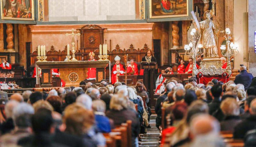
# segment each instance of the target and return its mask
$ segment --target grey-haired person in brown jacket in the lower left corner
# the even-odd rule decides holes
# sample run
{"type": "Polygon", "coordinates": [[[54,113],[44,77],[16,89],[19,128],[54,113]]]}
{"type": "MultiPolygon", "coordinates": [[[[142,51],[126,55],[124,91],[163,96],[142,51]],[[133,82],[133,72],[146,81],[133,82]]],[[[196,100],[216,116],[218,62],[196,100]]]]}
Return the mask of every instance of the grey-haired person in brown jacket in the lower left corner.
{"type": "Polygon", "coordinates": [[[1,136],[1,146],[11,146],[18,143],[20,138],[30,135],[31,116],[34,114],[34,108],[27,103],[20,103],[13,109],[12,119],[14,122],[14,129],[3,136],[1,136]]]}

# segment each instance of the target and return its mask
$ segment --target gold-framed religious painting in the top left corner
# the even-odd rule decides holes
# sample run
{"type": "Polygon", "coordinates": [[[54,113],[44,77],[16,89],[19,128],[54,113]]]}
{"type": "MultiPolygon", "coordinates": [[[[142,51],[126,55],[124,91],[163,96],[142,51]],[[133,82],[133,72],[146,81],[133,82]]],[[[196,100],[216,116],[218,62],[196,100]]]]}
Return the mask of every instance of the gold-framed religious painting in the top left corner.
{"type": "Polygon", "coordinates": [[[34,20],[34,0],[0,0],[1,18],[34,20]]]}

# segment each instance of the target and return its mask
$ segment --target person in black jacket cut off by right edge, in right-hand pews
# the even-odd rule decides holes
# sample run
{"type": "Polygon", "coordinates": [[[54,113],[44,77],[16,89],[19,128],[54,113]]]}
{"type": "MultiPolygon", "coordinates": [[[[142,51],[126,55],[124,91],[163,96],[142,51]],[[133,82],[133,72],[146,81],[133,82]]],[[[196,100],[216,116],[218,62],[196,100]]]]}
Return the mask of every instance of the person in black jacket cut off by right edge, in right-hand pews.
{"type": "Polygon", "coordinates": [[[234,138],[244,138],[245,134],[256,126],[256,99],[252,100],[250,105],[251,115],[238,123],[234,129],[234,138]]]}

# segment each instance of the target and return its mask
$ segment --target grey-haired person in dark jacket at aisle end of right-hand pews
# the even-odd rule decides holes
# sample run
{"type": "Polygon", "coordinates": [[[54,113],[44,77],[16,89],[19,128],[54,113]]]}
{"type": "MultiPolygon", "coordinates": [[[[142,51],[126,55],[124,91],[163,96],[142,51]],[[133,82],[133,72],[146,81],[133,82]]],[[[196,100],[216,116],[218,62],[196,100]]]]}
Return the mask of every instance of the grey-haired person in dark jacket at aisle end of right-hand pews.
{"type": "Polygon", "coordinates": [[[156,100],[156,106],[155,106],[155,112],[157,114],[156,117],[156,128],[159,129],[159,126],[161,125],[161,115],[162,115],[162,110],[161,110],[161,103],[164,102],[164,99],[167,97],[168,93],[172,91],[173,88],[172,83],[168,83],[165,86],[165,93],[162,96],[159,96],[156,100]]]}

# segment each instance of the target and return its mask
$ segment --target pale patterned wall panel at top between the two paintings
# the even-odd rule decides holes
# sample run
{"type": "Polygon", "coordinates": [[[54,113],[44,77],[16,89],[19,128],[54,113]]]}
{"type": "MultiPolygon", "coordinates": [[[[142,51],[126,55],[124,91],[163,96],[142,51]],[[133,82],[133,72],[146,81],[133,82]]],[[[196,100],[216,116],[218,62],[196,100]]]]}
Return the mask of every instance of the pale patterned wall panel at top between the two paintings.
{"type": "Polygon", "coordinates": [[[135,0],[49,0],[49,21],[133,20],[135,0]]]}

